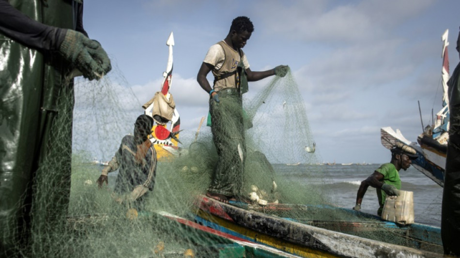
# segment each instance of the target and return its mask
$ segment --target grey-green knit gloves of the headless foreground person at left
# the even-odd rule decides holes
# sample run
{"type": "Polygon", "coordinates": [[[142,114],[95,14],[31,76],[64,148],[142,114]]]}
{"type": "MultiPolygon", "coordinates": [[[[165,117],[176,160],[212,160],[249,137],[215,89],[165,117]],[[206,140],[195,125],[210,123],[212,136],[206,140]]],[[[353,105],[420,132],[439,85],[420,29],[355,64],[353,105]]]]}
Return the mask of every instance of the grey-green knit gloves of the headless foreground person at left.
{"type": "Polygon", "coordinates": [[[75,30],[66,31],[59,53],[89,80],[100,79],[112,69],[101,44],[75,30]]]}

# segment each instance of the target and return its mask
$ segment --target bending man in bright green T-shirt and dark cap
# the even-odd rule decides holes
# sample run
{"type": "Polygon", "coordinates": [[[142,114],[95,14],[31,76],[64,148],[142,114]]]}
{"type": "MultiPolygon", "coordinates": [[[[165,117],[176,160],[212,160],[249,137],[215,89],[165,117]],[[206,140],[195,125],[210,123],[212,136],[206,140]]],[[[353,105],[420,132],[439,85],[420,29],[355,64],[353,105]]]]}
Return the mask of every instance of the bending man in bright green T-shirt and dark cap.
{"type": "Polygon", "coordinates": [[[404,170],[408,169],[411,166],[411,160],[416,158],[417,154],[415,150],[407,145],[400,145],[391,149],[391,161],[377,168],[372,175],[361,182],[356,195],[356,205],[353,207],[353,210],[361,210],[364,194],[366,194],[368,187],[372,186],[377,190],[380,205],[377,214],[381,216],[386,196],[399,196],[399,190],[401,189],[399,170],[401,168],[404,170]]]}

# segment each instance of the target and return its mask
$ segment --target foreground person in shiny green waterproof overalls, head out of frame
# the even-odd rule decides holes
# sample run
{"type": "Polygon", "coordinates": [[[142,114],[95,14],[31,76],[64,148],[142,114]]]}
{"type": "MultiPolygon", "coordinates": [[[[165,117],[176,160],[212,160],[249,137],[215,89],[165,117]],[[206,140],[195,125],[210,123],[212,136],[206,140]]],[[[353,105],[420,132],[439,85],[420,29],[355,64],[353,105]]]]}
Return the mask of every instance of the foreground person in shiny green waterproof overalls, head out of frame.
{"type": "Polygon", "coordinates": [[[31,228],[46,235],[65,221],[71,72],[92,80],[111,69],[82,16],[82,0],[0,0],[0,257],[33,256],[31,228]]]}

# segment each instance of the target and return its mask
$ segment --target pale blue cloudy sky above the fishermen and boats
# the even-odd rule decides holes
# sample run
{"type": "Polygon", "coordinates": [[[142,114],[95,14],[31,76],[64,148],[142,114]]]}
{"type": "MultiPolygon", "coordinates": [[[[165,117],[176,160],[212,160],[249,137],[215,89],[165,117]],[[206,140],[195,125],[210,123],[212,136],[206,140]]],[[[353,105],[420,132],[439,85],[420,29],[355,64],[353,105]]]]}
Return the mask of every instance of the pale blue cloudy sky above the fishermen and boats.
{"type": "MultiPolygon", "coordinates": [[[[458,0],[88,0],[83,20],[142,104],[160,89],[172,31],[171,93],[181,129],[196,130],[208,113],[196,80],[201,62],[232,19],[247,16],[255,28],[243,49],[251,70],[290,66],[323,161],[385,163],[381,127],[416,141],[417,101],[424,125],[441,108],[441,36],[449,30],[452,73],[458,10],[458,0]]],[[[251,82],[250,92],[270,80],[251,82]]]]}

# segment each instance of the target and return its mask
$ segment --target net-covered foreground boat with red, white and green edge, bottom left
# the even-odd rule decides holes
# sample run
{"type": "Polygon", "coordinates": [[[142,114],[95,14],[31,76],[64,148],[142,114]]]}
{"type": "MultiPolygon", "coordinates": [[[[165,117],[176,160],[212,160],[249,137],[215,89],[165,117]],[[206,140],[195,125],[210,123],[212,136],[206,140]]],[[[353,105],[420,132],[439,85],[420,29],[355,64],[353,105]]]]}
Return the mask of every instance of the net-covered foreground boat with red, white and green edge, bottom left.
{"type": "MultiPolygon", "coordinates": [[[[129,213],[129,212],[128,212],[129,213]]],[[[280,251],[263,244],[254,243],[243,238],[233,236],[209,227],[205,227],[187,220],[185,218],[170,214],[168,212],[135,212],[128,214],[128,218],[114,218],[107,214],[84,215],[68,217],[68,225],[76,231],[85,231],[87,228],[95,225],[101,226],[113,219],[144,219],[154,221],[152,227],[161,228],[167,225],[168,228],[181,228],[180,230],[168,230],[165,232],[173,234],[174,240],[180,243],[189,243],[185,248],[176,247],[176,249],[163,248],[156,253],[158,257],[206,257],[206,258],[298,258],[298,256],[280,251]],[[180,232],[180,233],[178,233],[180,232]],[[188,253],[188,255],[187,255],[188,253]]],[[[78,235],[78,234],[76,234],[78,235]]],[[[155,243],[152,243],[155,246],[155,243]]],[[[157,245],[158,247],[158,245],[157,245]]],[[[155,249],[157,249],[155,247],[155,249]]],[[[157,250],[155,250],[156,252],[157,250]]],[[[146,254],[145,257],[151,257],[146,254]]]]}

